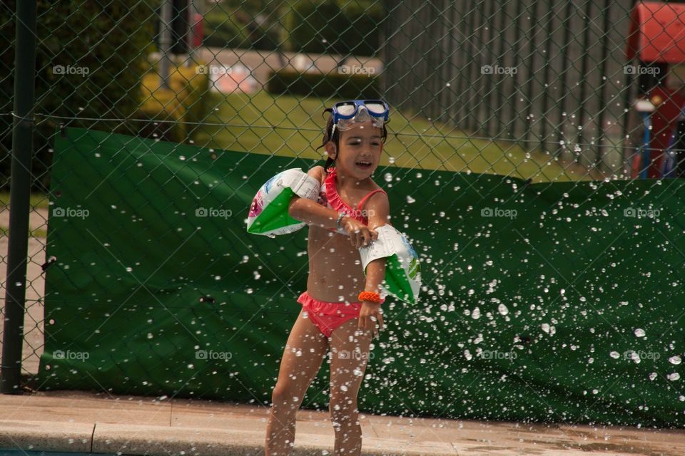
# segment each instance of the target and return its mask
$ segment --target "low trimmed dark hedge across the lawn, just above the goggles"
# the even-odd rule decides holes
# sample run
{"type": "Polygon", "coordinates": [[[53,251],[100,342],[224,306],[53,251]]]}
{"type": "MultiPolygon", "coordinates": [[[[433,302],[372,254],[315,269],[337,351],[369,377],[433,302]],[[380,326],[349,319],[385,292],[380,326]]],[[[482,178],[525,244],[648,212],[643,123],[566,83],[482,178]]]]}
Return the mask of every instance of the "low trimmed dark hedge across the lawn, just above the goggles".
{"type": "Polygon", "coordinates": [[[267,90],[280,95],[319,98],[380,98],[379,85],[377,76],[280,70],[269,74],[267,90]]]}

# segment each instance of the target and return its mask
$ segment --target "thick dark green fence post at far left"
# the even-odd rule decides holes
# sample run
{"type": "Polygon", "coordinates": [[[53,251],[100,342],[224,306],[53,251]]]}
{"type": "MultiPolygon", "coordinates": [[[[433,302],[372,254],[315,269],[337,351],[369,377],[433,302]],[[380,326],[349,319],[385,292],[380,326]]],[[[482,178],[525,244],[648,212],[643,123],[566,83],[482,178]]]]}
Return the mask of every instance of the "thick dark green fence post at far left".
{"type": "Polygon", "coordinates": [[[29,195],[34,145],[36,73],[36,0],[16,2],[14,56],[14,125],[9,197],[9,252],[5,281],[5,325],[2,335],[0,393],[21,392],[21,348],[24,343],[26,254],[29,249],[29,195]]]}

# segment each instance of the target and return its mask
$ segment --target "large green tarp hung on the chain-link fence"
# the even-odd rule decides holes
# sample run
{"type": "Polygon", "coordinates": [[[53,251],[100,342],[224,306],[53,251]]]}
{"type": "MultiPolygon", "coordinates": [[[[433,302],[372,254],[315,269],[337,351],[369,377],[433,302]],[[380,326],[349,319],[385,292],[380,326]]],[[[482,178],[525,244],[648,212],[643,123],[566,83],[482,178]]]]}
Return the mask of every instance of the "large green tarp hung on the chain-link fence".
{"type": "MultiPolygon", "coordinates": [[[[315,163],[69,128],[54,154],[41,388],[270,403],[307,229],[245,219],[265,180],[315,163]]],[[[388,299],[360,411],[685,424],[683,180],[375,179],[424,287],[388,299]]],[[[328,407],[328,374],[303,407],[328,407]]]]}

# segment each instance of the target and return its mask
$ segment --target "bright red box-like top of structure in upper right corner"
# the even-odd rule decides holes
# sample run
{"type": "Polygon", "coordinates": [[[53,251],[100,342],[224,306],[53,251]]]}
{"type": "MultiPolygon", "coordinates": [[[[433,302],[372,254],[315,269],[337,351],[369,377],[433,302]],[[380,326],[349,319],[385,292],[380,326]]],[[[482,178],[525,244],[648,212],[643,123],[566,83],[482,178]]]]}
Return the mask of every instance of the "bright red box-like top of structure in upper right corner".
{"type": "Polygon", "coordinates": [[[685,63],[685,4],[644,1],[631,12],[626,58],[685,63]]]}

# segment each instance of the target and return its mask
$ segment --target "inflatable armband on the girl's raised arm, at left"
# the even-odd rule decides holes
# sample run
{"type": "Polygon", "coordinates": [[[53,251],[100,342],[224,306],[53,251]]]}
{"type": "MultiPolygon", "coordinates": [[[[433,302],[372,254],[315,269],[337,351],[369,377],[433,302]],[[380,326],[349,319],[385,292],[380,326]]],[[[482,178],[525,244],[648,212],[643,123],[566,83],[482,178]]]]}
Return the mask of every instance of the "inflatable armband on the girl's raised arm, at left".
{"type": "Polygon", "coordinates": [[[275,237],[305,226],[305,222],[290,217],[288,205],[293,195],[316,201],[321,183],[301,168],[279,172],[260,187],[250,204],[248,233],[275,237]]]}

